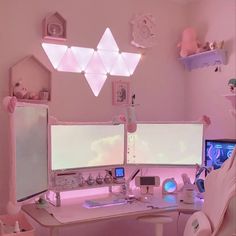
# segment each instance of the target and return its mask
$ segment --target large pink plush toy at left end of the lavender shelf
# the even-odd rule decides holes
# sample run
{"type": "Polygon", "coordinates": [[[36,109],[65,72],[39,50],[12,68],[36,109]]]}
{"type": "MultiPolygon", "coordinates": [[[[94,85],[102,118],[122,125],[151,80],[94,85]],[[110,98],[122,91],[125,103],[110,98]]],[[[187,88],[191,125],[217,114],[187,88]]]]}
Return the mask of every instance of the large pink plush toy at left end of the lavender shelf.
{"type": "Polygon", "coordinates": [[[200,42],[197,40],[196,31],[189,27],[182,33],[182,41],[177,45],[180,49],[180,56],[186,57],[200,52],[200,42]]]}

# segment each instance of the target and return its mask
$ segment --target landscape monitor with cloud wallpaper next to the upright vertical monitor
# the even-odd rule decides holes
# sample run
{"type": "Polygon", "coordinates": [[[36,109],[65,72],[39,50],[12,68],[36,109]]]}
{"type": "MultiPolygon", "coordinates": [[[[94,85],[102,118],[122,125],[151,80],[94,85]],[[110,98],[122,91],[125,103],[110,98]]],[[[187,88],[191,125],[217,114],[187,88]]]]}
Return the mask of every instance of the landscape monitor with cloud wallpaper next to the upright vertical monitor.
{"type": "Polygon", "coordinates": [[[124,137],[123,124],[51,125],[51,170],[122,165],[124,137]]]}

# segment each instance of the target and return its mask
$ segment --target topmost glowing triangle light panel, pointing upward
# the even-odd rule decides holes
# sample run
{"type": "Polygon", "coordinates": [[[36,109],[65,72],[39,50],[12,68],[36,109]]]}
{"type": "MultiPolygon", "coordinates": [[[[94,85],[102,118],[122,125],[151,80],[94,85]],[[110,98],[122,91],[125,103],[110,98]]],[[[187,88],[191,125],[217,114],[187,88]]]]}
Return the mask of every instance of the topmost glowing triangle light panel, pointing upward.
{"type": "Polygon", "coordinates": [[[98,43],[97,49],[119,52],[119,48],[109,28],[106,28],[101,40],[98,43]]]}

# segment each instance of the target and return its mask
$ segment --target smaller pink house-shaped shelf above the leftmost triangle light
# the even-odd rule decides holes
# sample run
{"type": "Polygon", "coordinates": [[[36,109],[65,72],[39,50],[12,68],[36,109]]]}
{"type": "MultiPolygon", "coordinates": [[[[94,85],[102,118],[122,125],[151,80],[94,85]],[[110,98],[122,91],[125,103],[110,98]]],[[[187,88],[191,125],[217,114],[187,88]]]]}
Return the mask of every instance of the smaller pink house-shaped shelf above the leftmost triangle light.
{"type": "Polygon", "coordinates": [[[58,12],[44,18],[43,39],[66,40],[66,20],[58,12]]]}

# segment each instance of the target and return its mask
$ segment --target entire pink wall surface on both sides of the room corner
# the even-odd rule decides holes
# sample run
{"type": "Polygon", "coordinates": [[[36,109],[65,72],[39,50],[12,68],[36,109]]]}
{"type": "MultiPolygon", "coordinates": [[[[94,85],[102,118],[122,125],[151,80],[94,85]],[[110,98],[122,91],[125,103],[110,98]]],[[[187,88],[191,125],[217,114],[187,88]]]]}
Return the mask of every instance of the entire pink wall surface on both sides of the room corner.
{"type": "MultiPolygon", "coordinates": [[[[199,0],[191,5],[166,0],[149,0],[148,3],[142,0],[0,1],[0,99],[8,94],[9,68],[23,57],[33,54],[53,71],[41,48],[41,22],[48,13],[58,11],[67,20],[69,45],[96,48],[105,28],[110,27],[121,50],[143,53],[130,79],[136,102],[140,104],[138,120],[197,120],[207,114],[212,119],[207,137],[235,138],[235,120],[228,113],[229,102],[221,96],[228,92],[228,78],[235,76],[235,10],[234,0],[227,3],[199,0]],[[152,13],[157,21],[157,45],[147,50],[130,44],[129,22],[133,14],[140,12],[152,13]],[[214,68],[188,73],[176,60],[176,44],[187,19],[197,27],[202,38],[226,41],[229,62],[222,66],[221,73],[213,72],[214,68]]],[[[122,108],[111,104],[111,82],[115,78],[120,79],[110,76],[96,98],[81,74],[53,71],[51,115],[64,121],[111,120],[123,112],[122,108]]],[[[9,178],[8,120],[2,108],[0,131],[4,134],[0,135],[1,212],[10,188],[6,185],[9,178]]]]}

